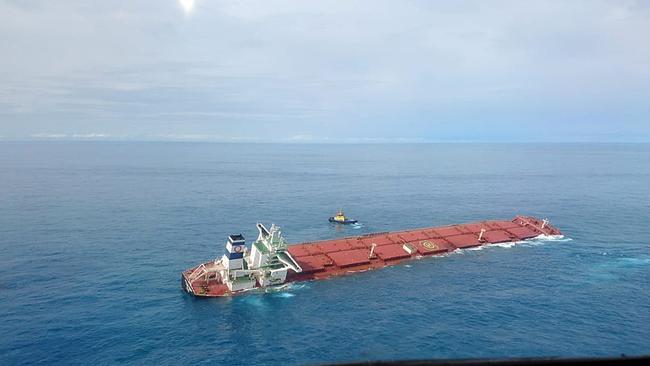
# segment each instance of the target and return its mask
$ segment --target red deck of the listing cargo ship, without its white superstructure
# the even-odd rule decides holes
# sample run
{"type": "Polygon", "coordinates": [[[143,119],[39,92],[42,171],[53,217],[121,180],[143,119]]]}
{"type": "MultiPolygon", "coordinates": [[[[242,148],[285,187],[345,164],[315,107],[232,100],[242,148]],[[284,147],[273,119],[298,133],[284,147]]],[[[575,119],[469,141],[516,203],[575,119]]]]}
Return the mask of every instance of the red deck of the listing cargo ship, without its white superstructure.
{"type": "MultiPolygon", "coordinates": [[[[546,221],[517,216],[511,221],[482,221],[295,244],[289,246],[288,251],[302,267],[302,272],[289,272],[285,283],[343,276],[416,258],[443,255],[457,249],[516,243],[541,235],[562,233],[546,221]]],[[[183,272],[184,288],[187,290],[191,286],[188,292],[200,297],[237,293],[209,279],[187,281],[196,268],[198,266],[183,272]]]]}

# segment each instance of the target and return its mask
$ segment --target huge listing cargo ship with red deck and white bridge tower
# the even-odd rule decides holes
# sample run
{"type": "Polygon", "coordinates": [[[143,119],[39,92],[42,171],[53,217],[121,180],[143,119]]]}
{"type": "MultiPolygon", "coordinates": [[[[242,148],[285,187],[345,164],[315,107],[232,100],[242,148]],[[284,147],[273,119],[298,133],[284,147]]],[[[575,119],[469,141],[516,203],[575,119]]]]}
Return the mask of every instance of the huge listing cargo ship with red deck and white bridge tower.
{"type": "Polygon", "coordinates": [[[249,249],[241,234],[230,235],[225,253],[182,273],[182,287],[197,297],[232,296],[281,289],[296,281],[320,280],[497,243],[560,237],[547,219],[512,220],[427,227],[289,245],[280,228],[258,223],[249,249]]]}

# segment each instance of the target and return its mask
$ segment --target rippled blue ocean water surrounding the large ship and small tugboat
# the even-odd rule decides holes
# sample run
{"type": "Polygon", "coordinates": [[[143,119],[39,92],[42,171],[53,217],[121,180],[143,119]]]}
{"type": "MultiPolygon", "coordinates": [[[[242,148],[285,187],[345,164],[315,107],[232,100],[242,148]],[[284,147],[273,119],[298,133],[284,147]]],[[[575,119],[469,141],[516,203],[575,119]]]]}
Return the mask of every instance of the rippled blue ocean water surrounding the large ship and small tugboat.
{"type": "Polygon", "coordinates": [[[650,145],[0,143],[2,365],[649,353],[650,145]],[[181,291],[258,221],[298,243],[517,214],[566,238],[181,291]]]}

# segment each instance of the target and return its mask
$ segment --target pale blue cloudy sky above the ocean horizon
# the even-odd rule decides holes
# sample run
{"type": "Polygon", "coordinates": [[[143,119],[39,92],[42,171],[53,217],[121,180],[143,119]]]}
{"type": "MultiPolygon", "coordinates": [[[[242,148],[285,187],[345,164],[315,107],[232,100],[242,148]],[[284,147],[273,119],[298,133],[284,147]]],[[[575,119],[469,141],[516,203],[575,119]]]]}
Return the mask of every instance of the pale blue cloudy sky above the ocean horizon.
{"type": "Polygon", "coordinates": [[[0,0],[0,139],[650,142],[648,1],[0,0]]]}

